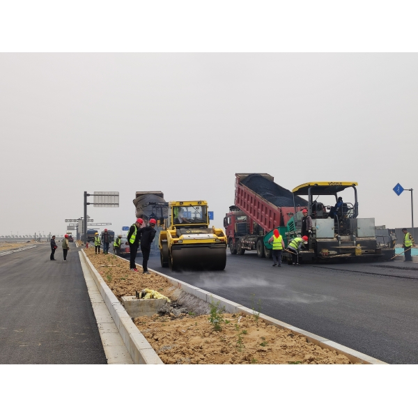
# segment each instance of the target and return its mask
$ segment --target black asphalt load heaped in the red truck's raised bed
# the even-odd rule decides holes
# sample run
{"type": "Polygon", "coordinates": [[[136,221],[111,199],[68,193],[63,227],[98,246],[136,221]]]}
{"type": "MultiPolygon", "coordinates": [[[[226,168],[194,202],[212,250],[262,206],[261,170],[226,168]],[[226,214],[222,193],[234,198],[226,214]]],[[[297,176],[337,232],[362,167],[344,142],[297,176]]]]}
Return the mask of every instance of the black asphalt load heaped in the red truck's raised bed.
{"type": "MultiPolygon", "coordinates": [[[[259,194],[264,199],[273,203],[274,206],[293,207],[293,193],[264,178],[260,174],[250,174],[244,180],[241,181],[242,185],[245,185],[256,194],[259,194]]],[[[308,202],[302,199],[300,196],[295,196],[295,204],[300,206],[307,206],[308,202]]]]}

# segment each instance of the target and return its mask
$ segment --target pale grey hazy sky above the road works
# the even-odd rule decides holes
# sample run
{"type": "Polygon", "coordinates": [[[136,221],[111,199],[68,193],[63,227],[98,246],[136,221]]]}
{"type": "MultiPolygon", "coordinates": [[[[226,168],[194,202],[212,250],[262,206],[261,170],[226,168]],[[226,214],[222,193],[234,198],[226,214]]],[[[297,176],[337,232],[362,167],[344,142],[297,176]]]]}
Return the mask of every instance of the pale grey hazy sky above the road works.
{"type": "Polygon", "coordinates": [[[143,190],[222,226],[240,172],[357,181],[359,217],[410,226],[392,188],[418,206],[417,72],[417,54],[0,54],[0,235],[65,232],[84,190],[120,192],[88,208],[117,232],[143,190]]]}

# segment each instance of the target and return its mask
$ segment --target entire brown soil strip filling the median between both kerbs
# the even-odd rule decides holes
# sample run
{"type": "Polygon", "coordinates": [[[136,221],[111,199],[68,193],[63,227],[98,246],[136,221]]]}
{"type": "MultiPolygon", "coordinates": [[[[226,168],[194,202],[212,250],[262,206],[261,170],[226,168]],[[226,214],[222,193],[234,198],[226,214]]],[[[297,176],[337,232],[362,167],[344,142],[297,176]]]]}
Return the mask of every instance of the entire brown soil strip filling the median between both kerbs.
{"type": "Polygon", "coordinates": [[[256,313],[225,314],[212,307],[212,315],[196,315],[176,302],[182,300],[179,291],[164,277],[132,272],[127,261],[111,254],[84,251],[119,300],[152,288],[173,301],[160,315],[134,320],[165,364],[351,364],[345,355],[268,325],[256,313]]]}

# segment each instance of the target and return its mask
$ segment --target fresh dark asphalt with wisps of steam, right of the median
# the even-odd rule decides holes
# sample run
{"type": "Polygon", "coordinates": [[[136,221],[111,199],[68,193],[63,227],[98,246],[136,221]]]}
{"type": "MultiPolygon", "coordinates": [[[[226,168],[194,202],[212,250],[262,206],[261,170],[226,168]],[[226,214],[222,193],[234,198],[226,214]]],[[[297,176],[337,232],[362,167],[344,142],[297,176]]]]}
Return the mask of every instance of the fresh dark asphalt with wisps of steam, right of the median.
{"type": "Polygon", "coordinates": [[[160,257],[148,266],[384,362],[418,363],[418,263],[273,268],[249,252],[228,253],[222,272],[170,272],[160,257]]]}

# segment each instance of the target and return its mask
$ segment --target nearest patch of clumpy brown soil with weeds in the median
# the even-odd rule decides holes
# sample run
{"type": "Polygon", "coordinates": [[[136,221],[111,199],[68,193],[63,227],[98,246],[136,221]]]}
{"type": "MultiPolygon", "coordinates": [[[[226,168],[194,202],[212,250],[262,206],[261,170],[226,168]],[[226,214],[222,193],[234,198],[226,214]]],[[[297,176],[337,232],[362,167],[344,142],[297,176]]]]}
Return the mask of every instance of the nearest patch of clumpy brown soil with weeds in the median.
{"type": "Polygon", "coordinates": [[[141,316],[134,323],[164,364],[352,364],[256,316],[223,314],[219,331],[209,318],[184,313],[141,316]]]}

